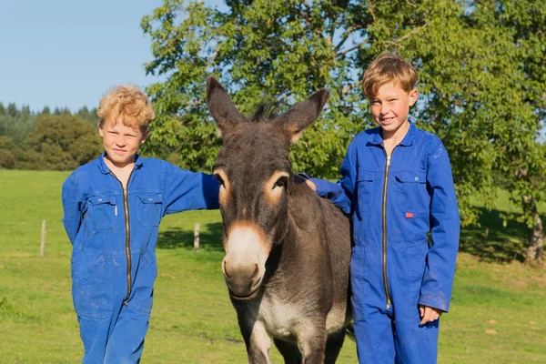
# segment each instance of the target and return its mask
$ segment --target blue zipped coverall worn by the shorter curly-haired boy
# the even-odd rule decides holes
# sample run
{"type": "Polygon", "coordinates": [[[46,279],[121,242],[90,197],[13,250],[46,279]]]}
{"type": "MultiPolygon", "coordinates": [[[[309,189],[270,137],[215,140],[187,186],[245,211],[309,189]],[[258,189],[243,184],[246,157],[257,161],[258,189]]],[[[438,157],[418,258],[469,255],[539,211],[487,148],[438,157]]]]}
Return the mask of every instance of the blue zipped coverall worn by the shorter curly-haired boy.
{"type": "Polygon", "coordinates": [[[73,245],[72,297],[84,363],[136,363],[144,348],[157,276],[158,226],[166,214],[218,208],[214,177],[136,156],[126,190],[104,154],[63,184],[63,222],[73,245]]]}

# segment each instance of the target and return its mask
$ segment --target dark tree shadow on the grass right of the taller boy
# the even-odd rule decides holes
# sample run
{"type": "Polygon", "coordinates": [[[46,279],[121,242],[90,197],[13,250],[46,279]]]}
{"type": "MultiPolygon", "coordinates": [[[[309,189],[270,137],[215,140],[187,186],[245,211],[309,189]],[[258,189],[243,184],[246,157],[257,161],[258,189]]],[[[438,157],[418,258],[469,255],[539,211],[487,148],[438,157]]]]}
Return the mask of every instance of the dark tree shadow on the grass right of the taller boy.
{"type": "MultiPolygon", "coordinates": [[[[459,251],[470,253],[483,261],[524,261],[527,248],[527,227],[515,220],[502,226],[500,210],[480,208],[480,227],[462,227],[459,251]]],[[[546,216],[541,215],[542,221],[546,216]]]]}

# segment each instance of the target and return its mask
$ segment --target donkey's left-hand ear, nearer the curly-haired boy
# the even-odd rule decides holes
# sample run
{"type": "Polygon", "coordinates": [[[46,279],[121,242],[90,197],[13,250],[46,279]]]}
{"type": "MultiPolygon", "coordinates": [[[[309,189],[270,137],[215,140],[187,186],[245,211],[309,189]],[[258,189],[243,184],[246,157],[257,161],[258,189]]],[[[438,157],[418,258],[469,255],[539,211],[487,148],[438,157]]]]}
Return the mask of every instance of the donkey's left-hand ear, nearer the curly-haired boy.
{"type": "Polygon", "coordinates": [[[233,105],[226,90],[213,76],[207,78],[207,106],[218,126],[218,134],[225,134],[227,128],[244,119],[233,105]]]}

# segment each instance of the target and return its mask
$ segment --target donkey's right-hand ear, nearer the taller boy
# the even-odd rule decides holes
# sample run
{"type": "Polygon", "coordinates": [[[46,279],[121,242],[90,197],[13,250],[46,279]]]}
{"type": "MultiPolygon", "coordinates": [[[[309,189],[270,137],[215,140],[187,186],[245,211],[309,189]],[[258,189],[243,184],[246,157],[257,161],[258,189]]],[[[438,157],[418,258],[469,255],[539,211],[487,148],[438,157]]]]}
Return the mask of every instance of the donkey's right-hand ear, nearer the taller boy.
{"type": "Polygon", "coordinates": [[[290,142],[296,143],[303,129],[313,124],[328,98],[328,90],[321,88],[307,100],[301,101],[296,106],[292,106],[286,113],[278,116],[278,123],[283,124],[288,136],[290,136],[290,142]]]}

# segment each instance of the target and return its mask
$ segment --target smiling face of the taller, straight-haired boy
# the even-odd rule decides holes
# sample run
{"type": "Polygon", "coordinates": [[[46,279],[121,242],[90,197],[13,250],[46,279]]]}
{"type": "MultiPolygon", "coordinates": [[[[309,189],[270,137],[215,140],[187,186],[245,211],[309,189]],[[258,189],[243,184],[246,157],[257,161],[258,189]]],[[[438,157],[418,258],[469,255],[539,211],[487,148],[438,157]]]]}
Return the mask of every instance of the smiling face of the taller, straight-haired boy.
{"type": "Polygon", "coordinates": [[[408,120],[410,106],[415,104],[418,96],[419,92],[415,88],[406,92],[392,82],[382,85],[378,95],[369,100],[371,116],[383,131],[394,134],[408,120]]]}

